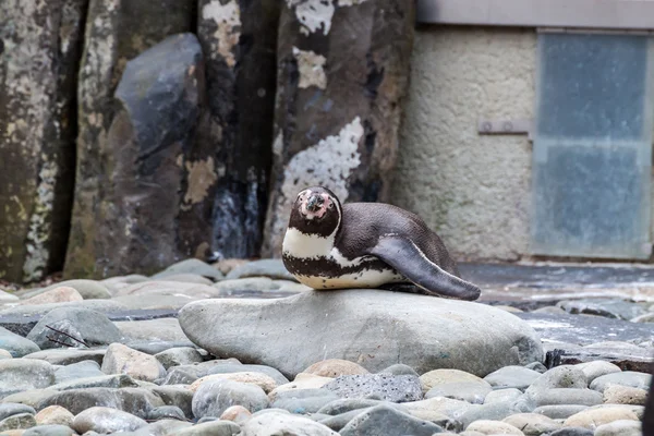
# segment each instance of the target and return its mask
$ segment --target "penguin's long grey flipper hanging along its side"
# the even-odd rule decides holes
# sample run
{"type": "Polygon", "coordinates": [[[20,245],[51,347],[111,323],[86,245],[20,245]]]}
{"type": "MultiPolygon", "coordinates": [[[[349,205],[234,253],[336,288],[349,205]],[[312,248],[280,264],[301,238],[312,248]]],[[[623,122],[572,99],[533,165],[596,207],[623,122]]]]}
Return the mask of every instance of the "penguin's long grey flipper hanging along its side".
{"type": "Polygon", "coordinates": [[[409,239],[382,237],[368,254],[378,257],[431,295],[459,300],[476,300],[482,290],[453,276],[428,257],[409,239]]]}

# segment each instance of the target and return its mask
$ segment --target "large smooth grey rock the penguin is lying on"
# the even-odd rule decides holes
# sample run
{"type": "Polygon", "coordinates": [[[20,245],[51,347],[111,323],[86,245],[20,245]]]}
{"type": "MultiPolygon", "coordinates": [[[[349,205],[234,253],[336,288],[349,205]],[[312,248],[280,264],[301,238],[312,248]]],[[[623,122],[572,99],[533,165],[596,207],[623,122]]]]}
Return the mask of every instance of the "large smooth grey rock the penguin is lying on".
{"type": "Polygon", "coordinates": [[[403,363],[421,374],[457,368],[481,377],[543,359],[534,329],[505,311],[380,290],[196,301],[179,320],[189,339],[216,356],[263,363],[291,377],[325,359],[372,372],[403,363]]]}

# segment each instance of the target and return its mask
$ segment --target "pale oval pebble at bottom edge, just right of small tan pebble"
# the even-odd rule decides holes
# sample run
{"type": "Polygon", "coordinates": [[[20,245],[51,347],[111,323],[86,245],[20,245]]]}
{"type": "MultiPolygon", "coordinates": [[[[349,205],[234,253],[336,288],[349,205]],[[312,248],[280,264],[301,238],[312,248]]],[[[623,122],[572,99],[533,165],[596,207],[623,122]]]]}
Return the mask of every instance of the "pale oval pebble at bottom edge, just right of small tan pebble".
{"type": "Polygon", "coordinates": [[[86,432],[116,433],[133,432],[146,425],[146,421],[131,413],[111,408],[93,407],[75,416],[72,428],[80,434],[86,432]]]}

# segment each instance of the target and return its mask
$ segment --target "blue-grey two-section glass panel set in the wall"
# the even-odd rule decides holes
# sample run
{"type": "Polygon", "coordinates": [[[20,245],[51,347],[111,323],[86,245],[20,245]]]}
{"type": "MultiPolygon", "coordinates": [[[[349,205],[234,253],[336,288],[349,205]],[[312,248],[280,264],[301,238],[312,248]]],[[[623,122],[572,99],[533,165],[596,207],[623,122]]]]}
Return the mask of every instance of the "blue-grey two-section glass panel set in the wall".
{"type": "Polygon", "coordinates": [[[532,252],[650,256],[646,36],[541,34],[532,252]]]}

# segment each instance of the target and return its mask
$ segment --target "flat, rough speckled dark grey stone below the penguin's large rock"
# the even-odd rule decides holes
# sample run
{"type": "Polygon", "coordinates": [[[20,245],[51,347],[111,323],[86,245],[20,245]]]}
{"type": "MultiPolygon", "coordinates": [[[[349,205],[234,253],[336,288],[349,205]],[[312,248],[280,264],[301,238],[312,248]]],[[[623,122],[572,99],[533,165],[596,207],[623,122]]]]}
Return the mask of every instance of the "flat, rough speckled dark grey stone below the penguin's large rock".
{"type": "Polygon", "coordinates": [[[420,379],[411,375],[344,375],[337,377],[324,387],[341,398],[373,398],[392,402],[422,399],[420,379]]]}

